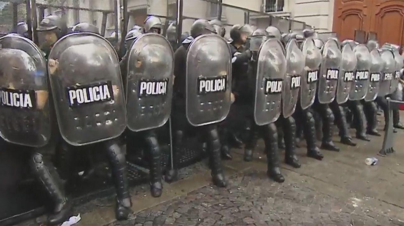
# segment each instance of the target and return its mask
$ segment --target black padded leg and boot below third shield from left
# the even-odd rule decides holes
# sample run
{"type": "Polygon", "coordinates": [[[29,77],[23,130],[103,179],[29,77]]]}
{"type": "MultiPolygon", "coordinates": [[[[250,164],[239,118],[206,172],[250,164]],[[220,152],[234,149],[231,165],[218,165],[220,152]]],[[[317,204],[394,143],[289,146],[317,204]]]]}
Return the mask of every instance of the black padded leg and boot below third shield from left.
{"type": "Polygon", "coordinates": [[[161,183],[162,166],[161,152],[156,134],[153,131],[145,133],[145,144],[149,150],[149,170],[150,170],[150,192],[153,197],[160,197],[163,189],[161,183]]]}

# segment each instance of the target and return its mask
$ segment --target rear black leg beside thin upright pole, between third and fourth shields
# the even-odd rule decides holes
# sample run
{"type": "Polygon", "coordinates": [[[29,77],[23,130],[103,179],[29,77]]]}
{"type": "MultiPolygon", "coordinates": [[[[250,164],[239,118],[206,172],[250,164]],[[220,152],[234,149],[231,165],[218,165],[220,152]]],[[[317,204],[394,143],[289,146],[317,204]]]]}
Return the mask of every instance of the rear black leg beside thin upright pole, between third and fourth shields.
{"type": "Polygon", "coordinates": [[[169,160],[172,160],[171,162],[168,162],[168,170],[166,170],[166,175],[165,175],[165,180],[168,183],[171,183],[173,181],[177,181],[178,179],[178,168],[179,168],[179,150],[181,148],[183,136],[184,136],[184,131],[183,130],[177,130],[174,132],[174,141],[173,141],[173,156],[170,156],[168,158],[169,160]]]}

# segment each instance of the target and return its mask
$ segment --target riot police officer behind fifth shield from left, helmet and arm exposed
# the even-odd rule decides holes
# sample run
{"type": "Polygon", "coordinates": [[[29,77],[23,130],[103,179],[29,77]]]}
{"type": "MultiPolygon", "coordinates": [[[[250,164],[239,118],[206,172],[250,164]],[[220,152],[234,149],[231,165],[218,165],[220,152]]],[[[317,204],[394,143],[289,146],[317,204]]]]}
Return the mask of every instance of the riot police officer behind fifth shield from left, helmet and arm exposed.
{"type": "MultiPolygon", "coordinates": [[[[249,25],[234,25],[231,28],[230,36],[233,39],[234,49],[240,47],[242,43],[246,43],[251,30],[249,25]]],[[[251,124],[250,134],[248,134],[244,149],[244,161],[252,160],[258,136],[261,136],[265,142],[265,154],[267,155],[267,176],[282,183],[285,179],[279,168],[278,134],[274,122],[280,116],[281,87],[286,73],[286,59],[281,43],[276,39],[268,41],[266,39],[267,33],[265,31],[261,29],[254,31],[250,39],[249,49],[242,54],[234,54],[234,68],[243,68],[245,64],[248,66],[246,74],[240,73],[238,76],[234,76],[236,80],[234,83],[237,84],[234,93],[236,101],[244,101],[246,115],[251,124]],[[261,48],[264,50],[261,51],[261,48]],[[279,58],[279,61],[276,62],[278,64],[272,64],[267,53],[279,58]],[[258,60],[261,58],[266,59],[263,61],[265,63],[261,64],[261,61],[258,60]],[[270,72],[266,73],[267,70],[270,72]],[[265,80],[266,88],[264,91],[260,87],[257,88],[256,84],[257,81],[262,80],[265,80]],[[272,85],[274,90],[270,90],[271,82],[276,83],[272,85]],[[266,106],[266,103],[269,103],[270,106],[266,106]],[[262,109],[264,105],[265,109],[262,109]],[[267,108],[271,111],[266,111],[267,108]]],[[[236,51],[233,50],[233,52],[236,51]]]]}

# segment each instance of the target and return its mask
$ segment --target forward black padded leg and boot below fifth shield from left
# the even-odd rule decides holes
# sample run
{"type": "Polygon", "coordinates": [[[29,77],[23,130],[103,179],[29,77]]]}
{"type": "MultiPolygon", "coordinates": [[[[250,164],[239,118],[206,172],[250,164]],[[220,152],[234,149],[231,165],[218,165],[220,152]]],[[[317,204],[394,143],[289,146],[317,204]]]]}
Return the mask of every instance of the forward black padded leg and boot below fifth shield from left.
{"type": "Polygon", "coordinates": [[[265,142],[265,152],[267,154],[267,175],[278,183],[283,183],[285,178],[280,173],[278,133],[275,123],[269,123],[260,127],[261,135],[265,142]]]}

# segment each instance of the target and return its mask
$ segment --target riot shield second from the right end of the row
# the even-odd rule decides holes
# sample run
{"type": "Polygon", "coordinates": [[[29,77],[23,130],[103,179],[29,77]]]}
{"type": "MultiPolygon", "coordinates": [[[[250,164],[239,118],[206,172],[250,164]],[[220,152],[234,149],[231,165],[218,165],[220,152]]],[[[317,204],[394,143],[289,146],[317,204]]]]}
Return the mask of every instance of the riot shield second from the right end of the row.
{"type": "Polygon", "coordinates": [[[396,61],[394,60],[394,55],[390,50],[380,49],[379,51],[381,59],[384,63],[384,67],[381,72],[379,93],[377,95],[380,97],[385,97],[386,95],[390,94],[391,80],[393,79],[396,70],[396,61]]]}

